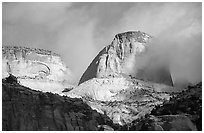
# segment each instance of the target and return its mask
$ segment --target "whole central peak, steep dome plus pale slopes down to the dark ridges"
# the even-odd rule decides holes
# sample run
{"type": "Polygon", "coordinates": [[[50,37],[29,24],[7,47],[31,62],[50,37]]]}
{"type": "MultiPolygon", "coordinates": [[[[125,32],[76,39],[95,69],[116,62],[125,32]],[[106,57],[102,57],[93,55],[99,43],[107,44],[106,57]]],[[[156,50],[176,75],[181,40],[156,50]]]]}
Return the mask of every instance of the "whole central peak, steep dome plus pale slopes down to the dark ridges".
{"type": "Polygon", "coordinates": [[[175,91],[167,65],[153,61],[141,67],[138,63],[137,57],[147,54],[151,38],[140,31],[117,34],[91,62],[79,86],[64,94],[85,99],[116,124],[145,117],[175,91]]]}

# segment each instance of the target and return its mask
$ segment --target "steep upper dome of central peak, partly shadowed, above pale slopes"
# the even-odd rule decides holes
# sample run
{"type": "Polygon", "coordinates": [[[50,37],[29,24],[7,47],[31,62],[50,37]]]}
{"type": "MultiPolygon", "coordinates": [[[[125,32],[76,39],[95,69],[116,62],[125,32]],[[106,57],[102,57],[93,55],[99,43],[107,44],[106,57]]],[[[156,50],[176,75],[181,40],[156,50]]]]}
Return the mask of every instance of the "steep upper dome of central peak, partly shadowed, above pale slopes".
{"type": "Polygon", "coordinates": [[[142,80],[173,85],[166,65],[151,69],[147,66],[138,68],[136,57],[148,52],[151,38],[150,35],[140,31],[117,34],[112,43],[95,57],[82,75],[79,84],[92,78],[118,77],[125,74],[142,80]]]}

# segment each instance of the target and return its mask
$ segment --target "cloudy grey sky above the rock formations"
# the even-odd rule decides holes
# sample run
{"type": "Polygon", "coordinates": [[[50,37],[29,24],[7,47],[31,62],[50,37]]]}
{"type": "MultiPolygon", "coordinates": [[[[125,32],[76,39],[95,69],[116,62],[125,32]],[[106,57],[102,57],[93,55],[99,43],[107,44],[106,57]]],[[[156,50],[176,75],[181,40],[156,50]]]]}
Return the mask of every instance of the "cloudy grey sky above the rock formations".
{"type": "Polygon", "coordinates": [[[156,38],[175,85],[202,80],[202,3],[3,3],[2,45],[61,55],[77,83],[115,34],[140,30],[156,38]]]}

